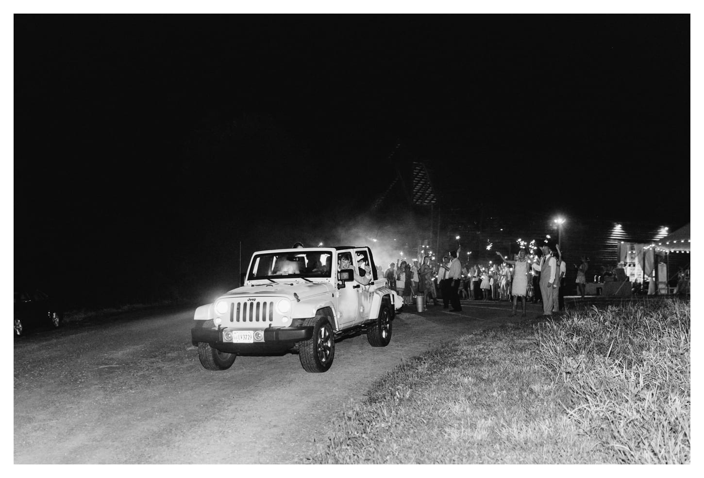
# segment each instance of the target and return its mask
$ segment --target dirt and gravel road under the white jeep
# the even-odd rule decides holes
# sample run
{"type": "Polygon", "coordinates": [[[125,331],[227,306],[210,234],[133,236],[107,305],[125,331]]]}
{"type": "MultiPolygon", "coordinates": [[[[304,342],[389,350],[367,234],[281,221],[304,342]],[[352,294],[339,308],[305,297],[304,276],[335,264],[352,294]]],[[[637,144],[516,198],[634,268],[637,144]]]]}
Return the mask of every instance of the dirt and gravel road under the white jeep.
{"type": "MultiPolygon", "coordinates": [[[[298,356],[239,356],[201,367],[194,308],[69,324],[15,340],[15,463],[297,463],[338,411],[386,371],[459,335],[507,323],[506,302],[396,316],[388,347],[336,343],[327,373],[298,356]]],[[[531,306],[529,316],[540,314],[531,306]]],[[[512,318],[513,320],[520,317],[512,318]]]]}

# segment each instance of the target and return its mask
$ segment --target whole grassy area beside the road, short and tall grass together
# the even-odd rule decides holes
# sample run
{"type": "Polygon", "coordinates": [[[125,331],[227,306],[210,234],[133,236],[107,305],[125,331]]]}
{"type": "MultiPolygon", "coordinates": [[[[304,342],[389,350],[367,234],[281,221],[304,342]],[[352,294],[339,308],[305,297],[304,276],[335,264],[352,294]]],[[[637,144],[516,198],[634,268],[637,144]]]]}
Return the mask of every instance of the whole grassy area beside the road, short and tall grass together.
{"type": "Polygon", "coordinates": [[[301,463],[689,463],[690,306],[568,312],[404,362],[301,463]]]}

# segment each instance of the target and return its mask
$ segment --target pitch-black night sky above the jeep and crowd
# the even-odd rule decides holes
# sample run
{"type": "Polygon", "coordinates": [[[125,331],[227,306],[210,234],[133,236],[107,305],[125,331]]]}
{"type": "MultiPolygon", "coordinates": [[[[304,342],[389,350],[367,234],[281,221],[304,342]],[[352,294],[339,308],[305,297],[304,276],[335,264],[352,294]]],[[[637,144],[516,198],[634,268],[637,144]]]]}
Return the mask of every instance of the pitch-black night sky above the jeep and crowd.
{"type": "Polygon", "coordinates": [[[624,198],[613,217],[689,221],[689,15],[15,15],[14,27],[15,280],[184,293],[173,277],[227,275],[240,240],[249,257],[364,212],[394,177],[398,141],[447,174],[442,187],[471,178],[497,207],[522,196],[552,214],[559,198],[592,214],[589,184],[592,198],[624,198]],[[561,194],[513,186],[547,171],[561,194]],[[512,193],[494,192],[500,179],[512,193]],[[646,207],[653,188],[679,207],[646,207]]]}

